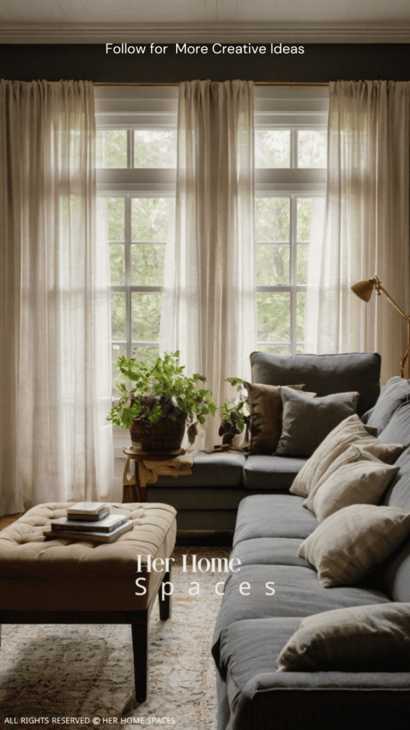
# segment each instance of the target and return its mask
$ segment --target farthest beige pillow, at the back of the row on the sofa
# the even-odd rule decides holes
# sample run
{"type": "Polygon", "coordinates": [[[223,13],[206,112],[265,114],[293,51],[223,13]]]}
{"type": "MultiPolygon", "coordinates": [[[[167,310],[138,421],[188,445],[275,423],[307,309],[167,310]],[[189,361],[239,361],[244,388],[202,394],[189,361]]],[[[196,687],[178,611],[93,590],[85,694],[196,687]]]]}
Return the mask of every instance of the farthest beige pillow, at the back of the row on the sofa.
{"type": "MultiPolygon", "coordinates": [[[[312,453],[312,456],[303,464],[301,471],[293,480],[290,491],[301,497],[307,497],[315,484],[325,474],[333,461],[336,461],[349,446],[360,442],[361,446],[375,443],[382,444],[377,453],[373,451],[374,456],[388,463],[392,463],[398,454],[403,450],[403,446],[398,444],[384,444],[376,439],[377,429],[371,426],[363,426],[357,413],[345,418],[339,426],[336,426],[330,434],[323,439],[322,443],[312,453]]],[[[374,449],[374,446],[372,447],[374,449]]]]}

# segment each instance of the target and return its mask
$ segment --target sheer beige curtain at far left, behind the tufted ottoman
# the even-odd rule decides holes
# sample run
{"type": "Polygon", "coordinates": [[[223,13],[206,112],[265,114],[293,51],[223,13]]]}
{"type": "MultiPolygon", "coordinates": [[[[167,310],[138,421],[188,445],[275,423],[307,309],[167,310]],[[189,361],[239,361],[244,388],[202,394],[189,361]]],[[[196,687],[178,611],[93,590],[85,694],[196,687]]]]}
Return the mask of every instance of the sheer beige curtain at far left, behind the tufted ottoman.
{"type": "Polygon", "coordinates": [[[112,483],[90,82],[0,83],[1,512],[112,483]]]}

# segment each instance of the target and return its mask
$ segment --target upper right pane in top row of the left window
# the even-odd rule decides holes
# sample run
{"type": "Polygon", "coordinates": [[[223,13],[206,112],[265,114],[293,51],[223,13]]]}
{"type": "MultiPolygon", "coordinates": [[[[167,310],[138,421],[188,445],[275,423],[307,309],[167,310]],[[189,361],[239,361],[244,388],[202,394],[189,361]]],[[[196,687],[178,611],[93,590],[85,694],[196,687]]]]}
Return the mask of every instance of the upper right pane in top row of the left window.
{"type": "Polygon", "coordinates": [[[134,167],[176,166],[176,131],[173,129],[134,130],[134,167]]]}

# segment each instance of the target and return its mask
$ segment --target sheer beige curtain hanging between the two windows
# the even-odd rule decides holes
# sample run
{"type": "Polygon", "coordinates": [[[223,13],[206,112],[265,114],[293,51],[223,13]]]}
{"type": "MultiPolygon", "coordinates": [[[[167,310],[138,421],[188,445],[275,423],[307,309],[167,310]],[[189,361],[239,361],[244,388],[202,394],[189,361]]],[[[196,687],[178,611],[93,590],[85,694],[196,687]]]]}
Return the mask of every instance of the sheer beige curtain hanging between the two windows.
{"type": "MultiPolygon", "coordinates": [[[[214,401],[235,395],[226,377],[250,377],[255,350],[253,84],[179,87],[176,237],[167,247],[160,347],[206,377],[214,401]]],[[[220,419],[206,439],[220,442],[220,419]]]]}

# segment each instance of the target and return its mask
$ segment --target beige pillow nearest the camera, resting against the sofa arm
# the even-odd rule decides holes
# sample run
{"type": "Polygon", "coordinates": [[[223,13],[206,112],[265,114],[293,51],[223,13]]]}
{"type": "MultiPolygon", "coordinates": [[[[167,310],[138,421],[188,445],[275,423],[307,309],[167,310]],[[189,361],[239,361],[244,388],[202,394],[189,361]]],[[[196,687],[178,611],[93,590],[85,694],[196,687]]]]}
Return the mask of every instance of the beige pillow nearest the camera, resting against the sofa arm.
{"type": "Polygon", "coordinates": [[[384,603],[303,618],[278,657],[279,672],[409,669],[410,604],[384,603]]]}

